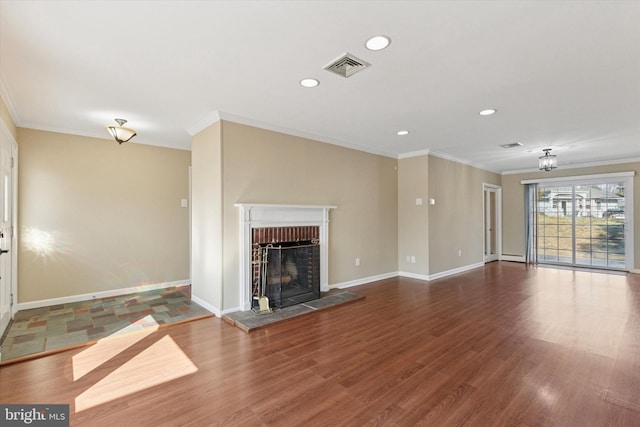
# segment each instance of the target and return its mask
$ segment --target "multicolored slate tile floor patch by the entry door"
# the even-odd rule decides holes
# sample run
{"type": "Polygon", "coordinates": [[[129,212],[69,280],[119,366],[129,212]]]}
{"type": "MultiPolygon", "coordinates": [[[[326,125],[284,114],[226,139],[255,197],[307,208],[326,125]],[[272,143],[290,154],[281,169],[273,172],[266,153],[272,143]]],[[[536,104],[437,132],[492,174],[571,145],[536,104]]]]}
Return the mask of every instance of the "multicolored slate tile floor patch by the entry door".
{"type": "Polygon", "coordinates": [[[0,363],[147,327],[213,316],[172,287],[18,311],[0,339],[0,363]]]}

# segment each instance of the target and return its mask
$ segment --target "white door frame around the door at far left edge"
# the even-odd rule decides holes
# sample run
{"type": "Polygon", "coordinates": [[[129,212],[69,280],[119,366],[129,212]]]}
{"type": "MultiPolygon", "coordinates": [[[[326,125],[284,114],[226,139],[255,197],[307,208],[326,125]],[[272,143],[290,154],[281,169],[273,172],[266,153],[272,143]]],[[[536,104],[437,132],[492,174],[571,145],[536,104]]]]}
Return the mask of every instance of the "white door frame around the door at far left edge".
{"type": "MultiPolygon", "coordinates": [[[[11,146],[11,248],[6,255],[11,256],[11,310],[13,319],[18,311],[18,142],[13,137],[9,128],[0,120],[0,138],[5,139],[11,146]]],[[[2,334],[4,331],[0,331],[2,334]]]]}

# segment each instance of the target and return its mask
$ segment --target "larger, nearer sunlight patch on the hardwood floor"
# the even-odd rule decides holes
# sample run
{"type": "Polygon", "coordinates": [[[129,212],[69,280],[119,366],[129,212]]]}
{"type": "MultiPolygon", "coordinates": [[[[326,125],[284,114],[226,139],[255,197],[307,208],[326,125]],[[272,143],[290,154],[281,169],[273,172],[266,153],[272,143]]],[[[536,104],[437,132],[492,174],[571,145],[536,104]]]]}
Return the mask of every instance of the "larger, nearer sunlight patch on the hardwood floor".
{"type": "Polygon", "coordinates": [[[166,335],[76,397],[75,412],[140,392],[198,371],[166,335]]]}

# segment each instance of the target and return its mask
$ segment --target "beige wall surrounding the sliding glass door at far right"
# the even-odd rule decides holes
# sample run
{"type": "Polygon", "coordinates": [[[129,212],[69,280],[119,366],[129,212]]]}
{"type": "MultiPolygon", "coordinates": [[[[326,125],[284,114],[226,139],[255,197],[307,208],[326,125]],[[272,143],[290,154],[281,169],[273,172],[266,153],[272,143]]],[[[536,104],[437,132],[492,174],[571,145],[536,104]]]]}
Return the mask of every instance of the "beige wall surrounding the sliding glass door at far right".
{"type": "Polygon", "coordinates": [[[635,171],[633,179],[634,198],[634,268],[640,268],[640,162],[622,163],[587,168],[558,168],[552,172],[531,172],[504,175],[502,177],[503,200],[503,253],[524,256],[524,185],[523,179],[558,178],[567,176],[594,175],[600,173],[635,171]]]}

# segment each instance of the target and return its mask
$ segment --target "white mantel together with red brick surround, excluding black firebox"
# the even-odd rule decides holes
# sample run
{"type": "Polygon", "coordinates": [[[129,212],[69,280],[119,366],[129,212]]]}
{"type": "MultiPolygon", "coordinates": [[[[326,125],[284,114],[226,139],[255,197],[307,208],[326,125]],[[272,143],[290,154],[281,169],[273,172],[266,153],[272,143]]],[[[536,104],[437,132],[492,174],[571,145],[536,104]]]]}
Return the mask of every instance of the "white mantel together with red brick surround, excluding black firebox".
{"type": "Polygon", "coordinates": [[[318,240],[320,290],[329,290],[329,210],[336,206],[238,203],[240,211],[239,306],[251,309],[254,267],[252,251],[259,243],[318,240]]]}

